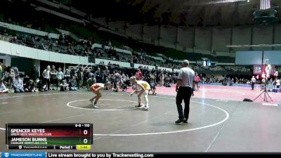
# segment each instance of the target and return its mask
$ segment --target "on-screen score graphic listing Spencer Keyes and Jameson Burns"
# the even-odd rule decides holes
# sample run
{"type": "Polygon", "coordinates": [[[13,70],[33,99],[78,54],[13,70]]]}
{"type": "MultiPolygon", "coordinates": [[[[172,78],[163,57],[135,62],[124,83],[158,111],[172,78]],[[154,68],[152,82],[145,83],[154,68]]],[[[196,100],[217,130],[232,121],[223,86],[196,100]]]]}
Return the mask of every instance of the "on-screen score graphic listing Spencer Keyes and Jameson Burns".
{"type": "Polygon", "coordinates": [[[6,145],[16,150],[90,150],[93,124],[6,124],[6,145]]]}

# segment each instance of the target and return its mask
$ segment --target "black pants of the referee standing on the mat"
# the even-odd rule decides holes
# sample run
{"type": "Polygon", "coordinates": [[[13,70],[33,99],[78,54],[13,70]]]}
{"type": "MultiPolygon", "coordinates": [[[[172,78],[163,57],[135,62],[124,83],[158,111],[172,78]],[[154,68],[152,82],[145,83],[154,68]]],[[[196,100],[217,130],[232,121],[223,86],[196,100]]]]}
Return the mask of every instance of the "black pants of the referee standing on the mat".
{"type": "Polygon", "coordinates": [[[178,88],[178,93],[176,94],[176,107],[178,107],[179,119],[184,119],[184,118],[188,119],[191,94],[192,94],[192,88],[190,87],[178,88]],[[185,103],[184,113],[183,113],[183,107],[181,106],[181,103],[183,101],[185,103]]]}

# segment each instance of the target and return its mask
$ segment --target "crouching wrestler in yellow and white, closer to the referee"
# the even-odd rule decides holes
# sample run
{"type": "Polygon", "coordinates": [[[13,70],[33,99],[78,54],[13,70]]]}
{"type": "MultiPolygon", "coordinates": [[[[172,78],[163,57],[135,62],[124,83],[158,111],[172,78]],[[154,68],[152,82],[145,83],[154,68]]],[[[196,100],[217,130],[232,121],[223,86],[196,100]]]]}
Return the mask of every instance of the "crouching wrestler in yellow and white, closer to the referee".
{"type": "Polygon", "coordinates": [[[134,76],[130,78],[130,81],[132,84],[136,85],[136,89],[130,93],[130,96],[133,96],[133,93],[138,93],[138,105],[136,105],[136,107],[148,111],[148,92],[150,91],[150,84],[146,81],[138,81],[134,76]],[[145,105],[141,104],[141,95],[144,95],[145,105]]]}

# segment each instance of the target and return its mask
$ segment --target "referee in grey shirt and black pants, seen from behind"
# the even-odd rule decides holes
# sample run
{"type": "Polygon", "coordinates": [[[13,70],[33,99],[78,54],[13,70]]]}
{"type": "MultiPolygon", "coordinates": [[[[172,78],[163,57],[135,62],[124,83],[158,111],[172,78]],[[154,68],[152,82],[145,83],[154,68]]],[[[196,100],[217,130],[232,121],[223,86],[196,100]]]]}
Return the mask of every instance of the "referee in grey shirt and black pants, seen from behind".
{"type": "Polygon", "coordinates": [[[178,81],[176,83],[176,107],[178,108],[178,120],[176,124],[181,122],[188,123],[190,97],[195,88],[195,72],[188,67],[189,61],[183,60],[182,68],[178,73],[178,81]],[[182,101],[185,103],[183,113],[182,101]]]}

